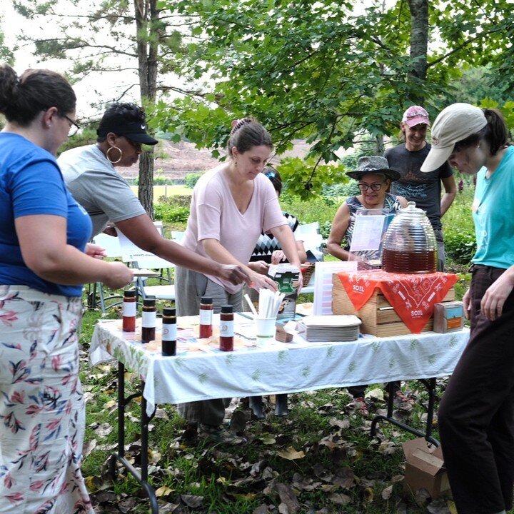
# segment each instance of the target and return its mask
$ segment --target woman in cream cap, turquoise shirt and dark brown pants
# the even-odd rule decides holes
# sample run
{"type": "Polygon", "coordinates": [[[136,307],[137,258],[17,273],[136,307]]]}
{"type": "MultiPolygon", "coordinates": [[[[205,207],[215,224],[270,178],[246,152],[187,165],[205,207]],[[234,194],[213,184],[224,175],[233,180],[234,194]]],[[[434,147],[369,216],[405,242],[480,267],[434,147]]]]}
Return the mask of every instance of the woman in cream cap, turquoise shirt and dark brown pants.
{"type": "Polygon", "coordinates": [[[439,409],[439,433],[459,514],[505,514],[514,488],[514,147],[495,109],[453,104],[433,124],[421,171],[445,160],[477,174],[477,251],[463,302],[468,346],[439,409]]]}

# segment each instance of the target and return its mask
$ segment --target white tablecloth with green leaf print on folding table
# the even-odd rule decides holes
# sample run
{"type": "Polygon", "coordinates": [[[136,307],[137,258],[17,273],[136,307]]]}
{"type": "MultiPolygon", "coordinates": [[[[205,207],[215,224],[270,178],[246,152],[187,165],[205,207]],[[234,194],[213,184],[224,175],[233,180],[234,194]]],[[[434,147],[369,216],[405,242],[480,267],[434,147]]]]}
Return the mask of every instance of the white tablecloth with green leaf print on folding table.
{"type": "MultiPolygon", "coordinates": [[[[238,323],[248,323],[236,316],[238,323]]],[[[244,332],[244,331],[241,331],[244,332]]],[[[378,338],[363,336],[344,343],[293,343],[239,347],[233,352],[160,350],[130,341],[121,321],[100,321],[91,343],[91,363],[116,358],[145,382],[143,395],[151,415],[158,403],[211,398],[293,393],[414,378],[450,375],[469,338],[468,329],[378,338]]]]}

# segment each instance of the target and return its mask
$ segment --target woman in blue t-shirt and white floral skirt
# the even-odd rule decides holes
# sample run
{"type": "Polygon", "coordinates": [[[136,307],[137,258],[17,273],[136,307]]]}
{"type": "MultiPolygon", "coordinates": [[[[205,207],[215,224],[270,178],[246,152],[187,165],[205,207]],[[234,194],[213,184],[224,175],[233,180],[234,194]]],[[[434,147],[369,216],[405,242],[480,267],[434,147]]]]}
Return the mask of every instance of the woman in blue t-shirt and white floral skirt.
{"type": "Polygon", "coordinates": [[[82,283],[120,288],[133,272],[87,243],[91,220],[57,166],[75,104],[61,75],[0,66],[0,513],[94,512],[80,471],[82,283]]]}

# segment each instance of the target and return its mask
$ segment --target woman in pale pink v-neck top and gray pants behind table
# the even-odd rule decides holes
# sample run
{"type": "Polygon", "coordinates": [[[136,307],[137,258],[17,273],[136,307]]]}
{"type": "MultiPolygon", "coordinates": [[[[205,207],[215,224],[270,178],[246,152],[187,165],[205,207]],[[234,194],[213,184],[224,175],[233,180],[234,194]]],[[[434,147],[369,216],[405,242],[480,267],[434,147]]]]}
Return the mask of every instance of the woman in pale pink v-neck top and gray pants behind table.
{"type": "MultiPolygon", "coordinates": [[[[227,161],[196,183],[181,244],[213,261],[244,266],[253,288],[274,290],[271,278],[247,266],[261,232],[271,232],[288,261],[300,268],[293,232],[283,217],[273,185],[262,173],[272,149],[271,137],[256,121],[244,118],[233,124],[227,161]]],[[[242,286],[181,267],[176,268],[175,281],[178,316],[198,314],[202,297],[213,299],[214,312],[224,304],[241,311],[242,286]]],[[[185,403],[178,406],[178,411],[189,422],[199,423],[200,432],[211,440],[242,443],[242,438],[220,427],[227,400],[185,403]]]]}

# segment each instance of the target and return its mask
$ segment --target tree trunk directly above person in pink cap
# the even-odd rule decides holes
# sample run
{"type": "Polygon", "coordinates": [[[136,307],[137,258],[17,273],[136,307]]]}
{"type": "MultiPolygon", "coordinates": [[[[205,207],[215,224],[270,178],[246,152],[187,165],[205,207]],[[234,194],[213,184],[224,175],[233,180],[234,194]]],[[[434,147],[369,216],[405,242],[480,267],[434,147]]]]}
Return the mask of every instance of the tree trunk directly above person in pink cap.
{"type": "MultiPolygon", "coordinates": [[[[410,9],[410,59],[413,63],[413,77],[426,80],[428,51],[428,0],[408,0],[410,9]]],[[[418,83],[418,81],[416,81],[418,83]]],[[[423,89],[413,87],[413,101],[423,105],[423,89]]]]}

